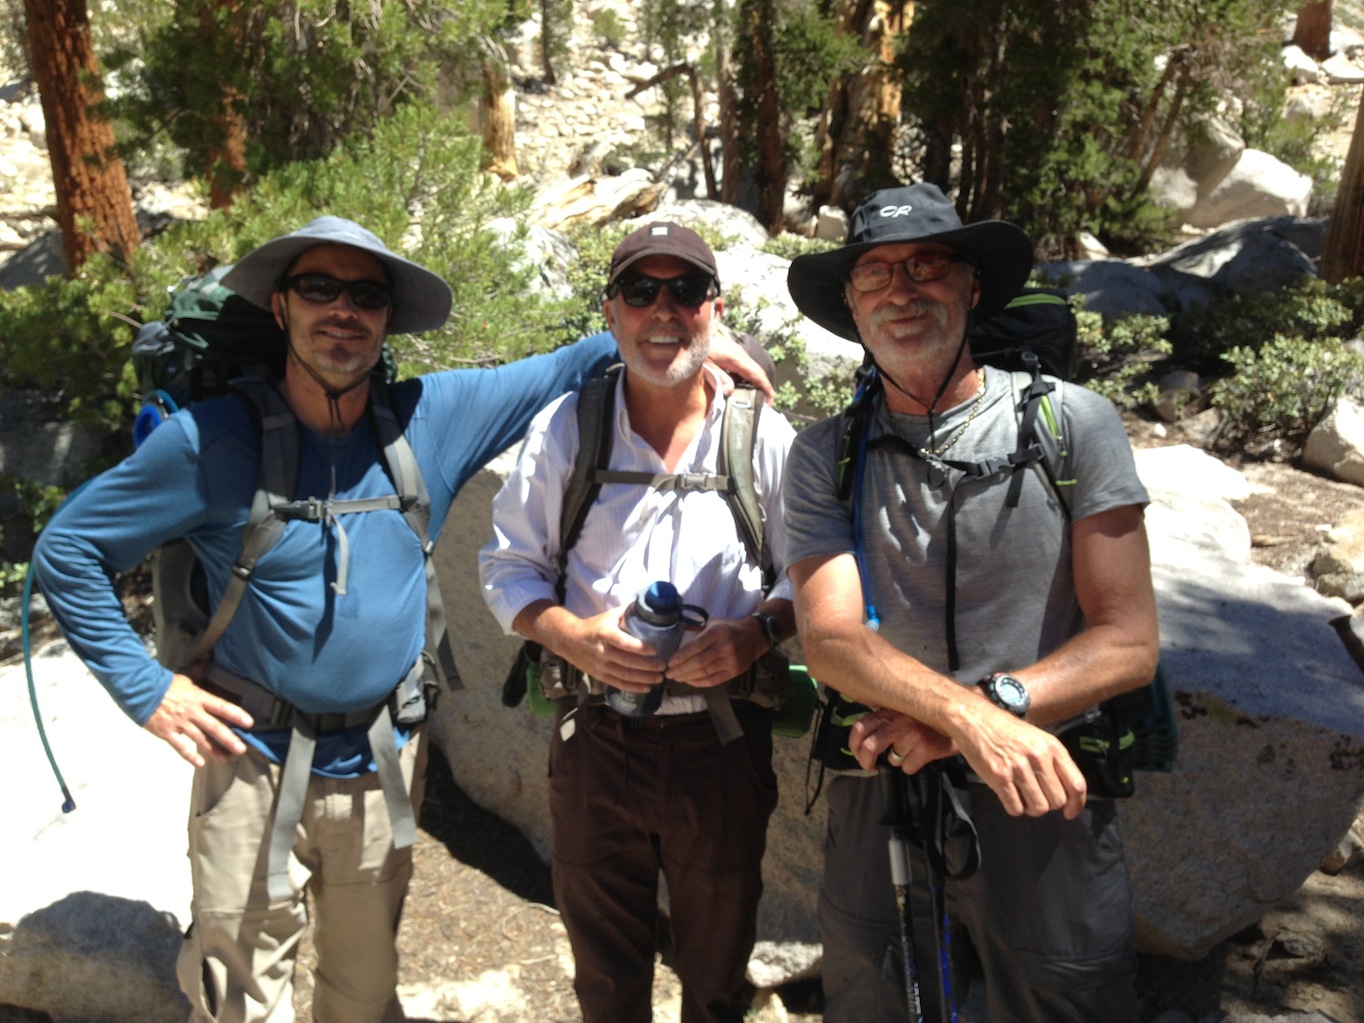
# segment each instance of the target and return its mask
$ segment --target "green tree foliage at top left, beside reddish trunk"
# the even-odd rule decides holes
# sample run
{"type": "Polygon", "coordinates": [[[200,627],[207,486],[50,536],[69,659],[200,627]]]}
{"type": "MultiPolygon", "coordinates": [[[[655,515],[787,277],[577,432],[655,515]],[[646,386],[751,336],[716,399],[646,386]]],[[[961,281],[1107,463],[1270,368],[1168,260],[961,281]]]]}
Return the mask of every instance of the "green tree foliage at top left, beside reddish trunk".
{"type": "Polygon", "coordinates": [[[120,83],[110,110],[121,149],[140,154],[154,140],[170,142],[187,176],[205,175],[231,101],[247,140],[248,181],[323,157],[404,104],[466,94],[479,78],[480,41],[513,15],[503,0],[117,7],[117,18],[95,22],[120,26],[100,37],[104,67],[120,83]]]}

